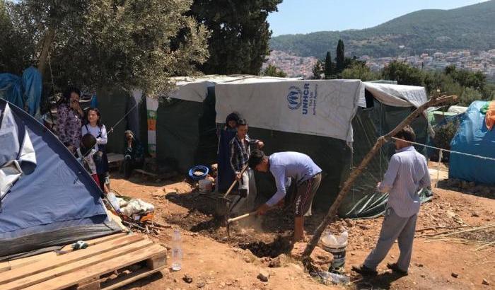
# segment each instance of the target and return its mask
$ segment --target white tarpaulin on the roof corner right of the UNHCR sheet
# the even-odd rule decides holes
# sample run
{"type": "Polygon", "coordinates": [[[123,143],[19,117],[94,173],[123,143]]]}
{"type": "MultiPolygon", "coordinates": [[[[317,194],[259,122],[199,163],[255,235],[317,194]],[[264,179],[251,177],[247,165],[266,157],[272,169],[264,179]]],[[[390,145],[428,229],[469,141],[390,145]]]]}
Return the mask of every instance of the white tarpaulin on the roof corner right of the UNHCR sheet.
{"type": "MultiPolygon", "coordinates": [[[[364,83],[364,86],[380,103],[394,107],[414,106],[418,108],[428,100],[426,90],[422,86],[402,86],[368,81],[364,83]]],[[[359,100],[359,106],[366,108],[364,95],[359,100]]]]}

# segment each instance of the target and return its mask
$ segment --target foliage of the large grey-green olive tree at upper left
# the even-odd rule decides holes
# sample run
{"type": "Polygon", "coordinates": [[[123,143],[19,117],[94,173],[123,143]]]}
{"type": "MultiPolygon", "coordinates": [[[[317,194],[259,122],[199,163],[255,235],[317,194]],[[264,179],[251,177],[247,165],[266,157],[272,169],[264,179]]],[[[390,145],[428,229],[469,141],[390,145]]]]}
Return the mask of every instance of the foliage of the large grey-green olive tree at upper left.
{"type": "Polygon", "coordinates": [[[208,56],[206,26],[185,16],[189,1],[23,0],[10,5],[13,22],[34,43],[25,53],[35,56],[39,68],[50,60],[59,88],[139,87],[154,93],[170,86],[169,76],[194,74],[208,56]]]}

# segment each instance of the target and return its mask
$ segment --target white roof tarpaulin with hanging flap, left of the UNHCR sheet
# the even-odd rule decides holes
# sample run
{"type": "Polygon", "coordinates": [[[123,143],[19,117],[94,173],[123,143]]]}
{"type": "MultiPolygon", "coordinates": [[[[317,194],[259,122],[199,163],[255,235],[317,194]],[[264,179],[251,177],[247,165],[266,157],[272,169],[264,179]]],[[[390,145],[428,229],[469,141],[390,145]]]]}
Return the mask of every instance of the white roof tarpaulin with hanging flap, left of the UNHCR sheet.
{"type": "Polygon", "coordinates": [[[257,83],[257,82],[272,82],[272,81],[293,81],[295,79],[276,78],[270,76],[177,76],[171,81],[175,82],[175,88],[170,93],[170,98],[179,100],[190,100],[192,102],[203,102],[208,93],[208,87],[214,86],[216,83],[257,83]]]}

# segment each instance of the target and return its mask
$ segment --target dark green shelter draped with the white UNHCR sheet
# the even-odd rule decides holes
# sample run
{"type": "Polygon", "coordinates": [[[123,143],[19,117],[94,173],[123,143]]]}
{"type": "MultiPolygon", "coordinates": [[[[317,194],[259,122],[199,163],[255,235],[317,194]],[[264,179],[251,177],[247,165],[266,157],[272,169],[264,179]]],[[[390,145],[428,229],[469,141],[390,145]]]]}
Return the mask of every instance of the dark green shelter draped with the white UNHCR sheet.
{"type": "MultiPolygon", "coordinates": [[[[264,151],[308,154],[324,175],[313,207],[327,209],[341,182],[371,149],[415,107],[426,102],[422,87],[359,80],[217,83],[216,122],[237,110],[250,124],[250,136],[265,141],[264,151]]],[[[426,117],[412,124],[417,141],[427,139],[426,117]]],[[[424,148],[417,148],[423,152],[424,148]]],[[[393,144],[383,146],[366,172],[354,183],[339,209],[345,217],[382,214],[388,195],[375,192],[387,169],[393,144]]],[[[268,199],[275,192],[271,175],[256,173],[257,192],[268,199]]]]}

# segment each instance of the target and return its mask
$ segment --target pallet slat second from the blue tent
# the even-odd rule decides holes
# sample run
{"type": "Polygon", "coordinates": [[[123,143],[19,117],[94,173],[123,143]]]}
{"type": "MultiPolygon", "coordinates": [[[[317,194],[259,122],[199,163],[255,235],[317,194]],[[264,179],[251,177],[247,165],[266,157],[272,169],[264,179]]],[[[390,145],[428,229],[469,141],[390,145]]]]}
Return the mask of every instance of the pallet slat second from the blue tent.
{"type": "Polygon", "coordinates": [[[67,253],[65,255],[52,257],[51,259],[40,260],[31,265],[28,265],[27,267],[11,269],[4,275],[4,277],[0,277],[0,285],[6,284],[15,279],[21,279],[23,277],[27,277],[33,274],[47,271],[55,267],[61,267],[63,265],[69,264],[74,261],[83,260],[86,259],[87,257],[93,257],[100,253],[105,253],[109,250],[120,248],[124,245],[134,243],[144,238],[145,236],[141,236],[141,235],[124,236],[121,238],[117,238],[115,240],[109,240],[100,245],[91,246],[84,250],[77,250],[71,253],[67,253]]]}

